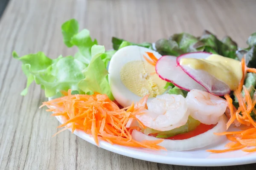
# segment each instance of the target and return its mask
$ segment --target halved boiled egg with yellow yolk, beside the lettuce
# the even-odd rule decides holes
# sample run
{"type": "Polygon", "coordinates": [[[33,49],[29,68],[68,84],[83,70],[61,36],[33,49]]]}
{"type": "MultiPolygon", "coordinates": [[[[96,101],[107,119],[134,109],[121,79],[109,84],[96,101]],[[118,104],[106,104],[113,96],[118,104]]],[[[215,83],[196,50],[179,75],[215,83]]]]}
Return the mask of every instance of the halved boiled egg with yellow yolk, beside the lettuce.
{"type": "Polygon", "coordinates": [[[166,91],[166,81],[143,58],[143,55],[147,57],[146,52],[153,53],[157,59],[162,57],[157,51],[131,45],[116,51],[111,58],[108,81],[114,98],[123,107],[140,101],[146,94],[150,94],[150,100],[166,91]]]}

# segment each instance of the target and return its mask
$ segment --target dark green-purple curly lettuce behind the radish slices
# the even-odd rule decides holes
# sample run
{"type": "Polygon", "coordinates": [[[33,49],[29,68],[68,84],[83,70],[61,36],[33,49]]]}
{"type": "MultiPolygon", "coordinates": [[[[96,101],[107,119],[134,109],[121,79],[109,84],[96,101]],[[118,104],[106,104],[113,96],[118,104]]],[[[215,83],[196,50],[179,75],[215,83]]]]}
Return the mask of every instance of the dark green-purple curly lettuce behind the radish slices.
{"type": "Polygon", "coordinates": [[[155,47],[162,55],[174,56],[195,51],[206,51],[212,54],[236,58],[237,50],[236,42],[230,37],[224,37],[223,40],[220,41],[207,30],[204,31],[201,37],[194,37],[188,33],[174,34],[169,40],[157,40],[155,47]]]}

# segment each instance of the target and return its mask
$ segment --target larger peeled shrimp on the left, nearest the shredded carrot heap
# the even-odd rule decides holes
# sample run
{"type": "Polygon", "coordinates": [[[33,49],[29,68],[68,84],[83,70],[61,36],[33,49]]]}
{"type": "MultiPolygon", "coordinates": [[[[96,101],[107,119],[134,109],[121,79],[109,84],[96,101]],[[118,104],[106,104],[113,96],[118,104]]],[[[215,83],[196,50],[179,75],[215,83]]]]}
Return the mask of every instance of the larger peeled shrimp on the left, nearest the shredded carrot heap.
{"type": "Polygon", "coordinates": [[[136,118],[146,127],[167,131],[185,125],[189,113],[181,95],[163,94],[146,103],[147,109],[136,118]]]}

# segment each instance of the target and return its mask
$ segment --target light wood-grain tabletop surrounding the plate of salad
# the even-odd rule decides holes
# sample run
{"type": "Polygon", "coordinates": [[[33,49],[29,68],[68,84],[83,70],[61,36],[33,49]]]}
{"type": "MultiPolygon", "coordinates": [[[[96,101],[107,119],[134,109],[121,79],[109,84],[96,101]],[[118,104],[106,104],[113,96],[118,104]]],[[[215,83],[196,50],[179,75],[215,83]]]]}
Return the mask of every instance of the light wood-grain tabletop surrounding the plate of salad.
{"type": "Polygon", "coordinates": [[[11,0],[0,21],[0,170],[249,170],[235,167],[185,167],[132,159],[98,148],[72,135],[58,134],[58,121],[38,109],[45,100],[38,85],[27,96],[21,63],[11,54],[44,51],[49,57],[74,54],[62,42],[61,24],[71,18],[111,48],[111,37],[154,42],[204,29],[229,35],[245,47],[256,31],[255,0],[11,0]]]}

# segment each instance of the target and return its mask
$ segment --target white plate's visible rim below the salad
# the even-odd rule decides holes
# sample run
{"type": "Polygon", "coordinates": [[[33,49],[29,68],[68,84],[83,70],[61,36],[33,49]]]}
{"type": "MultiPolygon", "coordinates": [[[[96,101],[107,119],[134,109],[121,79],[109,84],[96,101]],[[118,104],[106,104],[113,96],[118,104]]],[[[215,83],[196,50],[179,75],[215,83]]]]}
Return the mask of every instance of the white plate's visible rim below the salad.
{"type": "MultiPolygon", "coordinates": [[[[61,124],[61,116],[56,116],[61,124]]],[[[70,130],[71,131],[71,130],[70,130]]],[[[75,130],[74,134],[91,144],[96,145],[93,137],[81,130],[75,130]]],[[[99,141],[101,148],[131,158],[152,161],[163,164],[186,165],[186,166],[229,166],[256,163],[256,153],[246,153],[236,150],[227,153],[208,153],[207,149],[224,149],[228,140],[224,137],[220,143],[200,149],[189,151],[155,151],[144,148],[125,147],[117,144],[99,141]]]]}

